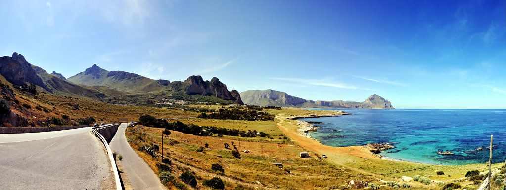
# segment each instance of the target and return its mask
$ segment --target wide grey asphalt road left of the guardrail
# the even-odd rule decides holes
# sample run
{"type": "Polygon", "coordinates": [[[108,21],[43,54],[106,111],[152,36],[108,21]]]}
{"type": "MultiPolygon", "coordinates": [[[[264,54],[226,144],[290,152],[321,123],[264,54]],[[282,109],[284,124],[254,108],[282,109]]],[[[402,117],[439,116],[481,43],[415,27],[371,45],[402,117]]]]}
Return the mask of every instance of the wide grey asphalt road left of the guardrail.
{"type": "Polygon", "coordinates": [[[0,188],[101,189],[113,182],[103,145],[90,130],[0,135],[0,188]]]}

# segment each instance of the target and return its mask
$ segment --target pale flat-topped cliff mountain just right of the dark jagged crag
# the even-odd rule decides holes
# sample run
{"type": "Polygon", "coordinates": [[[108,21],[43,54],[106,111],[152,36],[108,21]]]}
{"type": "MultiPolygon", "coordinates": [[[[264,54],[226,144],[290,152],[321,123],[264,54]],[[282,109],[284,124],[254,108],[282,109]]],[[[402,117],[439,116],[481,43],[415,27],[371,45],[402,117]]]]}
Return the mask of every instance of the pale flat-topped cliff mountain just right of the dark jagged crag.
{"type": "Polygon", "coordinates": [[[245,104],[259,106],[302,106],[307,100],[290,96],[285,92],[276,90],[248,90],[241,92],[245,104]]]}

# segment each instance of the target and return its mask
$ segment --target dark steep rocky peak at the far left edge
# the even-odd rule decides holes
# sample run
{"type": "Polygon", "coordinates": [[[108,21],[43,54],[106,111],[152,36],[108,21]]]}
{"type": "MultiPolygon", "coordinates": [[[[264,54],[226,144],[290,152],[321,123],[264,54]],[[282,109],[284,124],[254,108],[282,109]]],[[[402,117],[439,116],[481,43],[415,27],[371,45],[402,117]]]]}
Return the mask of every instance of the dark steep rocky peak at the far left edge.
{"type": "Polygon", "coordinates": [[[25,57],[21,54],[14,52],[12,57],[0,57],[0,74],[2,74],[9,82],[15,85],[22,86],[26,83],[31,83],[40,86],[48,91],[51,91],[37,76],[35,70],[26,61],[25,57]]]}

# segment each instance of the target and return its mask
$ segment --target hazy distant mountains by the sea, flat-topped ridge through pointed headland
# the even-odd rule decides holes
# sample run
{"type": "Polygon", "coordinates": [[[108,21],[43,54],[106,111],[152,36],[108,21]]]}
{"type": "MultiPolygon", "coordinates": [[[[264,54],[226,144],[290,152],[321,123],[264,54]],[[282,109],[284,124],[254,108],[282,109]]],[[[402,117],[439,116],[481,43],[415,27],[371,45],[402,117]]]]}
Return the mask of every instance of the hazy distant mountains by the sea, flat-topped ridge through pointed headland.
{"type": "Polygon", "coordinates": [[[390,101],[373,94],[363,102],[356,101],[312,101],[290,96],[285,92],[275,90],[248,90],[241,92],[245,104],[259,106],[281,107],[334,107],[334,108],[360,108],[360,109],[394,109],[390,101]]]}

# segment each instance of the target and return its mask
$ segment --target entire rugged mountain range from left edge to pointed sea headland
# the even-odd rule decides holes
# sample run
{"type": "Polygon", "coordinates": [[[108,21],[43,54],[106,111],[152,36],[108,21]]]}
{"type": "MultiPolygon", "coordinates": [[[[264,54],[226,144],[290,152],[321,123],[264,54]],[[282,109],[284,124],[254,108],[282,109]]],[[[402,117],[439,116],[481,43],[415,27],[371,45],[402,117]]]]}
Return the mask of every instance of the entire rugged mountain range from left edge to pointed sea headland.
{"type": "Polygon", "coordinates": [[[23,55],[16,52],[12,56],[0,57],[0,75],[20,88],[33,85],[33,88],[41,92],[106,103],[150,104],[164,99],[177,99],[259,106],[393,109],[388,100],[375,94],[363,102],[312,101],[270,89],[241,93],[229,91],[216,77],[204,81],[201,76],[190,76],[185,81],[171,82],[123,71],[106,71],[97,65],[66,79],[56,71],[49,74],[44,69],[31,65],[23,55]]]}

